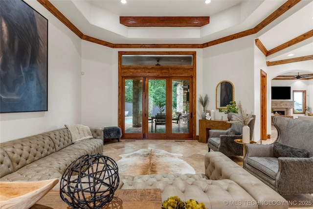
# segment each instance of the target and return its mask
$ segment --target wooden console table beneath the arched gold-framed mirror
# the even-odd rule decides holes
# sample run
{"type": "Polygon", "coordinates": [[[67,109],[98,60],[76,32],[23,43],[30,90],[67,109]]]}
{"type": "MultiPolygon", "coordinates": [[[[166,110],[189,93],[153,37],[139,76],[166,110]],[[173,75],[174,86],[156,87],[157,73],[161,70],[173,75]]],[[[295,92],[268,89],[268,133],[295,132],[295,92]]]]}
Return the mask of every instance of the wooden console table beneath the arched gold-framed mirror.
{"type": "Polygon", "coordinates": [[[229,127],[227,120],[199,120],[199,142],[207,143],[210,129],[226,130],[229,127]]]}

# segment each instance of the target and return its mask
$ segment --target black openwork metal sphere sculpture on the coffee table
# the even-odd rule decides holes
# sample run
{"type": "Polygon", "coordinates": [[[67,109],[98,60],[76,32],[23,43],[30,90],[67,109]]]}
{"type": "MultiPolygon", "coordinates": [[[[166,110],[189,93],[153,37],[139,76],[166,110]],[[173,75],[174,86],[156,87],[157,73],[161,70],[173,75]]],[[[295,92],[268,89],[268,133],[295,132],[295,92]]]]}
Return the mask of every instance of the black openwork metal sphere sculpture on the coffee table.
{"type": "Polygon", "coordinates": [[[104,155],[84,155],[71,163],[60,182],[60,196],[71,208],[100,209],[119,185],[115,161],[104,155]]]}

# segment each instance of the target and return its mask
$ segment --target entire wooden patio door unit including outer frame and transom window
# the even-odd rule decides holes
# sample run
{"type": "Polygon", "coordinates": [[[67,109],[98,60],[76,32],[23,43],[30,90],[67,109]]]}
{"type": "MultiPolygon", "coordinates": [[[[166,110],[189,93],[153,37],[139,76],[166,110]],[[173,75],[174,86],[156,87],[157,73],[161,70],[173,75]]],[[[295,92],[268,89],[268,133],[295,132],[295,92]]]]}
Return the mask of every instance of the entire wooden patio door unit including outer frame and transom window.
{"type": "Polygon", "coordinates": [[[196,139],[195,90],[195,51],[119,51],[122,139],[196,139]]]}

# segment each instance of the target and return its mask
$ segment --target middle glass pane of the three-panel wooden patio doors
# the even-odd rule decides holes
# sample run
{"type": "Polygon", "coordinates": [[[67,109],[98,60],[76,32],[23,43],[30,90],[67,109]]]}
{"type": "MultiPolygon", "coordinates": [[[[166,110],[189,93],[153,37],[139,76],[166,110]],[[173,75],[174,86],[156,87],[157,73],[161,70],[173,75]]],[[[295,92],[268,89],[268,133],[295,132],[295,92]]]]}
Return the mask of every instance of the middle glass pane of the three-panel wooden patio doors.
{"type": "Polygon", "coordinates": [[[166,80],[148,80],[148,128],[149,133],[166,133],[166,80]]]}

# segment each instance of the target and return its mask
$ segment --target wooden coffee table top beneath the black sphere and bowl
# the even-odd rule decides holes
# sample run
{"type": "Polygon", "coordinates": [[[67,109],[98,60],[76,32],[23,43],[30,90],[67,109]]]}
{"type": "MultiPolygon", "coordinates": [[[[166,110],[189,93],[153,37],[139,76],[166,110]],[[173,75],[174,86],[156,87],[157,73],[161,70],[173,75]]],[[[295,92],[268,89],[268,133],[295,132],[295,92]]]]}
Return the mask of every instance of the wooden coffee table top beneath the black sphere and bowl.
{"type": "MultiPolygon", "coordinates": [[[[113,199],[102,209],[160,209],[160,189],[116,189],[113,199]]],[[[48,192],[31,209],[70,209],[61,199],[59,191],[48,192]]]]}

